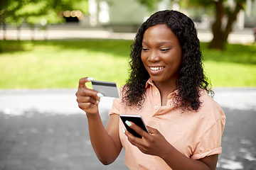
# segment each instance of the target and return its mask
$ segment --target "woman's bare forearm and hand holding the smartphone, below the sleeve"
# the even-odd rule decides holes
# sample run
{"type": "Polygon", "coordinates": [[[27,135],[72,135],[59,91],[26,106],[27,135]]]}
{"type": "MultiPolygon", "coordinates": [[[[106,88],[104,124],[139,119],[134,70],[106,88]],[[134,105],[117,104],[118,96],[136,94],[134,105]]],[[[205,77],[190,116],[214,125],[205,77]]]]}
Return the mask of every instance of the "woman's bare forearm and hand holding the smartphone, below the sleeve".
{"type": "Polygon", "coordinates": [[[147,133],[134,123],[130,124],[130,128],[142,135],[142,139],[134,137],[126,130],[125,135],[127,135],[129,142],[138,147],[144,154],[161,157],[171,169],[213,170],[216,168],[218,154],[200,160],[190,159],[178,152],[158,130],[147,127],[149,130],[149,133],[147,133]]]}

